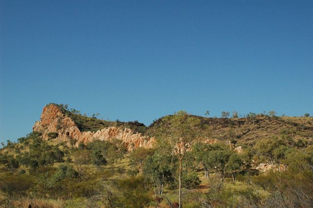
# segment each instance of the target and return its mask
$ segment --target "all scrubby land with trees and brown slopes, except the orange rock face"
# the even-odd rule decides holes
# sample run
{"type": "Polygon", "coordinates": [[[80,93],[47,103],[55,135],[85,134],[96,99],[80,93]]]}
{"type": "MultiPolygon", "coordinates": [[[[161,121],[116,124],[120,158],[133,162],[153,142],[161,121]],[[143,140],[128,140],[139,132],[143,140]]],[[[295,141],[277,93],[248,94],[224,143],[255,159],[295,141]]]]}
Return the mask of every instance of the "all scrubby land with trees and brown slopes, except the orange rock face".
{"type": "MultiPolygon", "coordinates": [[[[89,130],[119,123],[63,112],[89,130]]],[[[144,129],[156,145],[132,152],[122,140],[75,147],[57,132],[48,141],[41,132],[8,141],[0,149],[0,206],[166,208],[179,204],[181,190],[184,208],[313,207],[310,117],[178,112],[144,129]]]]}

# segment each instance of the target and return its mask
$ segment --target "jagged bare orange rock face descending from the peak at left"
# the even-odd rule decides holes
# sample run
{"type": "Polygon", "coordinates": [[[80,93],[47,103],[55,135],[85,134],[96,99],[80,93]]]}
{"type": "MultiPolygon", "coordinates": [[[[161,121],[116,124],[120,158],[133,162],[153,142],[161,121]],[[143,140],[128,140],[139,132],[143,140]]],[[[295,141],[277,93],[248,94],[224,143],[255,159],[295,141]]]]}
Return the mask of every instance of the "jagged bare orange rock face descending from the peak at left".
{"type": "Polygon", "coordinates": [[[130,151],[137,147],[151,148],[155,141],[154,137],[143,136],[129,128],[122,129],[115,126],[103,128],[96,132],[81,132],[72,119],[65,115],[55,104],[49,104],[44,107],[40,121],[35,123],[33,131],[42,132],[44,140],[49,139],[49,133],[57,132],[57,139],[67,142],[75,139],[77,141],[76,146],[93,140],[110,141],[119,139],[123,141],[126,148],[130,151]]]}

